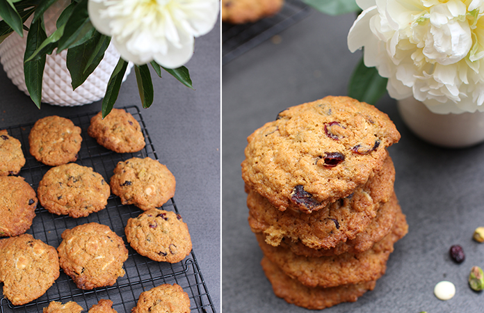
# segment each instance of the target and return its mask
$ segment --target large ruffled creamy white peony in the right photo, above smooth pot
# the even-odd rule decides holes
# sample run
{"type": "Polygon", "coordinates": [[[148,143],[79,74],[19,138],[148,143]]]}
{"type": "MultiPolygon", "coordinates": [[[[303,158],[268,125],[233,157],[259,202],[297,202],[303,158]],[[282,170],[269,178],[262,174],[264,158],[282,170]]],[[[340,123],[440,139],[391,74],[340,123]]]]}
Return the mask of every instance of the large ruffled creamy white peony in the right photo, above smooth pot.
{"type": "Polygon", "coordinates": [[[435,113],[484,112],[484,0],[357,0],[348,47],[391,97],[435,113]]]}

